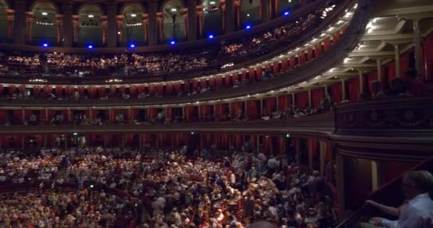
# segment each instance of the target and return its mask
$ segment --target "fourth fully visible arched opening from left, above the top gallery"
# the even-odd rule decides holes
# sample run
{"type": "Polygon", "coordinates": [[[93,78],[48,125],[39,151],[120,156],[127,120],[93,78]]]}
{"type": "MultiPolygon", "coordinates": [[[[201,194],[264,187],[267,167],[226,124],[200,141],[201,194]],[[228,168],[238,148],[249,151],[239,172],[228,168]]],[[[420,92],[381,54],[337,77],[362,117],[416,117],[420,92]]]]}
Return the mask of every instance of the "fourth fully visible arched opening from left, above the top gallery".
{"type": "Polygon", "coordinates": [[[183,4],[180,0],[169,0],[162,5],[162,33],[164,41],[183,41],[185,39],[185,22],[182,17],[183,4]]]}

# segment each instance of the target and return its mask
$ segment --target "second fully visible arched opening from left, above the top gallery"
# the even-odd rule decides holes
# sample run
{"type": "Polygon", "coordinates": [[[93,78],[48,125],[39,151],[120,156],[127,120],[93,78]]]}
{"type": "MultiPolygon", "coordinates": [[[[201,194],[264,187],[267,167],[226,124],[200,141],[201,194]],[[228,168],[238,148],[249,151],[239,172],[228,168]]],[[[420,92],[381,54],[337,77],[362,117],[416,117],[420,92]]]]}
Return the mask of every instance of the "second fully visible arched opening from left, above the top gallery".
{"type": "MultiPolygon", "coordinates": [[[[85,4],[78,11],[78,46],[103,46],[103,11],[96,4],[85,4]]],[[[76,31],[75,31],[76,32],[76,31]]]]}

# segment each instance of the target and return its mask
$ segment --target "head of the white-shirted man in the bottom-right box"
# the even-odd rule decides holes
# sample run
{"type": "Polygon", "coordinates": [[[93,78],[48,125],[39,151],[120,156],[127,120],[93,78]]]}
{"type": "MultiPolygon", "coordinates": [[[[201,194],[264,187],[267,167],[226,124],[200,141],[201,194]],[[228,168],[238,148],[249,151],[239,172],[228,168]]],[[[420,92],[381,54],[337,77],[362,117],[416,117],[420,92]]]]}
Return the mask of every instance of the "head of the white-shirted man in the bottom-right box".
{"type": "Polygon", "coordinates": [[[433,199],[433,175],[426,170],[410,171],[402,180],[402,191],[407,199],[419,194],[429,193],[433,199]]]}

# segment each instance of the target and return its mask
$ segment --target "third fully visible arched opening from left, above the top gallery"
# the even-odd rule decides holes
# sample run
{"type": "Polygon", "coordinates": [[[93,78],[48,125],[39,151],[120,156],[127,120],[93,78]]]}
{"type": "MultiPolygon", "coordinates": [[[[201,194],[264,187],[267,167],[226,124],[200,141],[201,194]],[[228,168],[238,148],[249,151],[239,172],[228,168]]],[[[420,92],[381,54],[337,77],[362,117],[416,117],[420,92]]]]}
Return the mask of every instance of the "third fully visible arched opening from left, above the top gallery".
{"type": "MultiPolygon", "coordinates": [[[[146,13],[143,6],[139,3],[127,4],[122,10],[123,27],[118,34],[122,36],[121,44],[135,43],[136,45],[145,45],[147,43],[147,26],[143,21],[143,14],[146,13]]],[[[120,40],[120,39],[119,39],[120,40]]]]}

